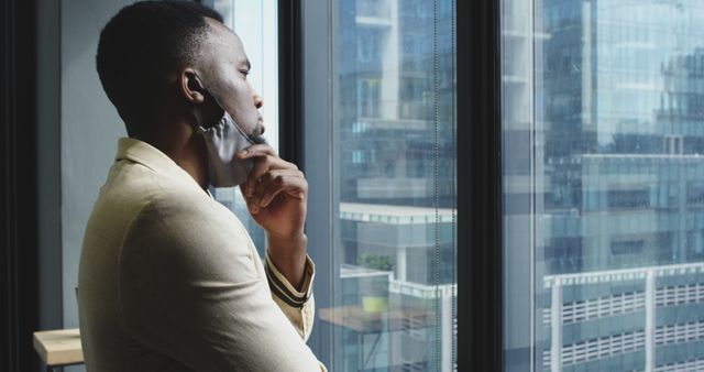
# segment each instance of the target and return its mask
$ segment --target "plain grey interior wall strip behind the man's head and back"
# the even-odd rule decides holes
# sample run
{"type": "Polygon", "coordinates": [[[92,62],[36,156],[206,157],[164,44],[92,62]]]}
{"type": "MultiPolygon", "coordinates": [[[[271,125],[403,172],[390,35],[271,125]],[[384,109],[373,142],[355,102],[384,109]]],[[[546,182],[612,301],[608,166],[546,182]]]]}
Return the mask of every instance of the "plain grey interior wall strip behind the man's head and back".
{"type": "Polygon", "coordinates": [[[125,130],[96,72],[100,30],[133,1],[61,2],[61,186],[63,326],[78,327],[75,287],[92,205],[125,130]]]}

